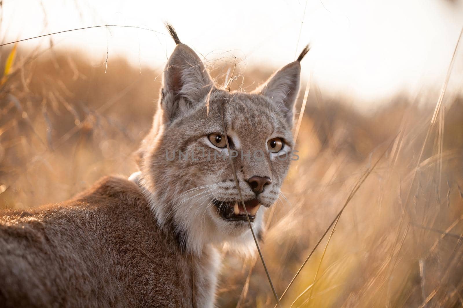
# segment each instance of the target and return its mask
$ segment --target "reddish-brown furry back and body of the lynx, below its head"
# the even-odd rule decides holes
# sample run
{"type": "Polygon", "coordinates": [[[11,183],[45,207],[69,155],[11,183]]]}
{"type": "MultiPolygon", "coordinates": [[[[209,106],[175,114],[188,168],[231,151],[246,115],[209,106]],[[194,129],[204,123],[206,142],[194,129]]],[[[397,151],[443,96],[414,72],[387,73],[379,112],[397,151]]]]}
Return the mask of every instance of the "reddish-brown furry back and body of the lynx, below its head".
{"type": "Polygon", "coordinates": [[[193,307],[193,277],[191,255],[122,178],[0,216],[2,307],[193,307]]]}

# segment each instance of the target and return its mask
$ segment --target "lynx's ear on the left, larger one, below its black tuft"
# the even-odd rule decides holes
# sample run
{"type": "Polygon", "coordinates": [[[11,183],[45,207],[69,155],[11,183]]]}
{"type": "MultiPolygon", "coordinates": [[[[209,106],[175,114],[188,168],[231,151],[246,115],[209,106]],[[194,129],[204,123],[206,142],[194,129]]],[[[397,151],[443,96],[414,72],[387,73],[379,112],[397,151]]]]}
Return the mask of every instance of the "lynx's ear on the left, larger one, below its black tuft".
{"type": "Polygon", "coordinates": [[[170,56],[163,74],[161,107],[172,119],[192,108],[209,93],[213,82],[198,55],[179,42],[170,56]]]}

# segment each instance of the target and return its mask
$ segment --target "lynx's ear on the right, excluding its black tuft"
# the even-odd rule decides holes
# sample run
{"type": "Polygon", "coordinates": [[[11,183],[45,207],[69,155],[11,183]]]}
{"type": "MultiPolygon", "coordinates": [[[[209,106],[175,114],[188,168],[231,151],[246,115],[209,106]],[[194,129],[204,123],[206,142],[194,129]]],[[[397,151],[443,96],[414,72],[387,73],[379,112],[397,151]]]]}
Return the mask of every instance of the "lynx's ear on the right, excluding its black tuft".
{"type": "Polygon", "coordinates": [[[284,66],[267,80],[257,92],[268,97],[289,123],[293,122],[293,108],[299,93],[300,64],[294,61],[284,66]]]}

